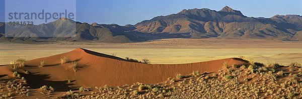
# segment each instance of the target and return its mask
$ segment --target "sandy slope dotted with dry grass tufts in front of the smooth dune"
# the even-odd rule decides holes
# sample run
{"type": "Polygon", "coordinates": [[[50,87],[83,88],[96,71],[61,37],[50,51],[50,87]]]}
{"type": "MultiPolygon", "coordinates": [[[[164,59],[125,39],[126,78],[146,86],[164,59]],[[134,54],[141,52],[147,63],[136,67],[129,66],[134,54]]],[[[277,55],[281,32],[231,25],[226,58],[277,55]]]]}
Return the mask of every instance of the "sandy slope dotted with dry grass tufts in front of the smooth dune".
{"type": "MultiPolygon", "coordinates": [[[[176,78],[169,77],[158,84],[137,82],[132,85],[110,87],[107,84],[95,88],[81,86],[79,91],[69,90],[58,98],[301,98],[301,67],[260,66],[257,62],[255,65],[249,65],[247,69],[246,67],[232,65],[228,69],[222,68],[210,73],[200,74],[199,71],[192,71],[186,75],[177,73],[176,78]],[[84,92],[84,95],[79,92],[84,92]]],[[[24,77],[17,71],[12,75],[21,79],[10,80],[5,84],[0,80],[0,97],[16,98],[16,95],[21,95],[31,98],[30,95],[34,93],[22,89],[26,85],[20,86],[16,82],[25,80],[24,77]],[[6,92],[2,92],[2,89],[6,92]]],[[[68,83],[70,82],[68,80],[68,83]]],[[[39,89],[39,92],[47,97],[51,96],[53,91],[51,86],[46,85],[39,89]]]]}

